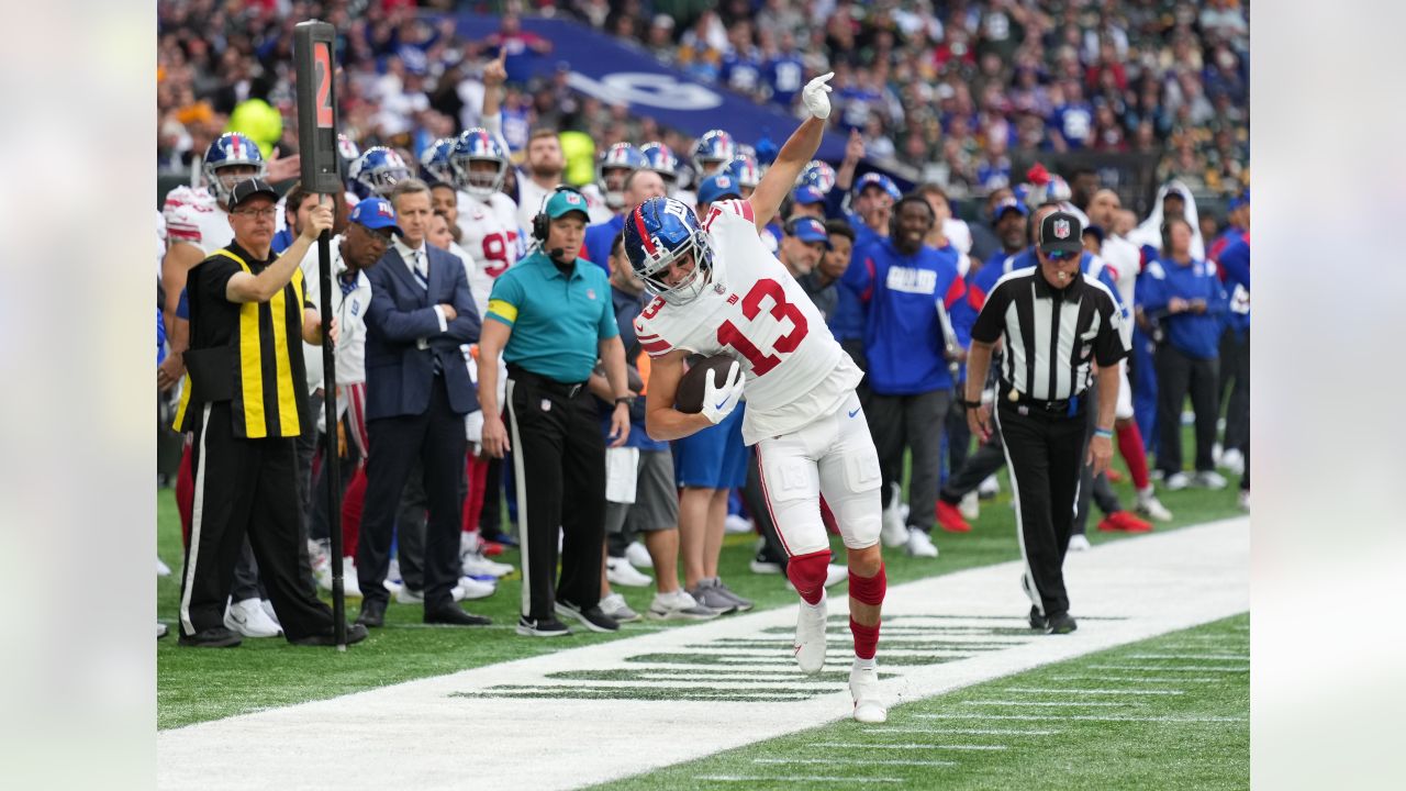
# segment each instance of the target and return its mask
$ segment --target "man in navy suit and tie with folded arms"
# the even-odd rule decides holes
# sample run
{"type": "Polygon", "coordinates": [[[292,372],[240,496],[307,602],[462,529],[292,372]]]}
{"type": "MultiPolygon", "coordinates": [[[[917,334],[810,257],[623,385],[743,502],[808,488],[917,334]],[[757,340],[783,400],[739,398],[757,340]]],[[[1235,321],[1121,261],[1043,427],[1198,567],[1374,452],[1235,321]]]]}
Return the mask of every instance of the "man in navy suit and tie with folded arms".
{"type": "Polygon", "coordinates": [[[425,474],[425,622],[482,626],[488,618],[454,604],[467,439],[464,415],[478,408],[460,346],[478,341],[479,317],[464,265],[426,243],[430,190],[406,179],[392,191],[402,235],[367,270],[366,417],[375,450],[367,459],[366,511],[357,548],[359,624],[381,626],[391,528],[415,462],[425,474]]]}

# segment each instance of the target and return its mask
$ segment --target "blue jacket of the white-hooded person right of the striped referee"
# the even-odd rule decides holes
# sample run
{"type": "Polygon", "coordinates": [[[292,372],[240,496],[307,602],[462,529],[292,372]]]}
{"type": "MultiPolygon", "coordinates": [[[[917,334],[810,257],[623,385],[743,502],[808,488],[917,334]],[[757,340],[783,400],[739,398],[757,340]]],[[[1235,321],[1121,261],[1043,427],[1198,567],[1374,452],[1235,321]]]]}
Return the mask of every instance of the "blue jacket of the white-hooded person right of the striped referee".
{"type": "Polygon", "coordinates": [[[1181,353],[1198,360],[1220,356],[1220,318],[1226,312],[1229,297],[1215,263],[1192,259],[1178,265],[1166,258],[1150,262],[1137,276],[1133,298],[1144,314],[1160,319],[1167,329],[1167,342],[1181,353]],[[1173,297],[1205,300],[1206,312],[1167,314],[1173,297]]]}

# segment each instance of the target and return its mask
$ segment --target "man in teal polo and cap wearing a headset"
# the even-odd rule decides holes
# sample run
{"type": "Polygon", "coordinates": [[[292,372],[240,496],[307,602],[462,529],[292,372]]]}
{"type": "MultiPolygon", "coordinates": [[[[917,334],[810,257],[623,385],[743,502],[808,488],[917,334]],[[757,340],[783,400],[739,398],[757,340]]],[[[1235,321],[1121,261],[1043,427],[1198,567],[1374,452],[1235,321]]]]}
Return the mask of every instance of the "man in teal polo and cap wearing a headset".
{"type": "Polygon", "coordinates": [[[610,283],[603,269],[576,255],[586,220],[579,191],[558,186],[547,196],[531,222],[537,246],[494,281],[478,342],[484,450],[494,457],[513,455],[523,573],[517,633],[526,636],[571,633],[558,615],[595,632],[620,628],[600,611],[606,457],[585,387],[596,357],[616,394],[612,448],[630,435],[633,396],[610,283]],[[502,405],[499,355],[508,363],[502,405]],[[565,533],[560,584],[554,580],[558,526],[565,533]]]}

